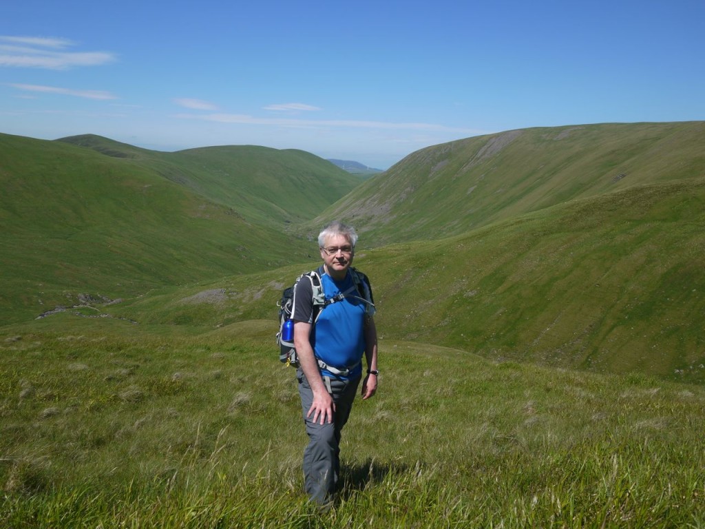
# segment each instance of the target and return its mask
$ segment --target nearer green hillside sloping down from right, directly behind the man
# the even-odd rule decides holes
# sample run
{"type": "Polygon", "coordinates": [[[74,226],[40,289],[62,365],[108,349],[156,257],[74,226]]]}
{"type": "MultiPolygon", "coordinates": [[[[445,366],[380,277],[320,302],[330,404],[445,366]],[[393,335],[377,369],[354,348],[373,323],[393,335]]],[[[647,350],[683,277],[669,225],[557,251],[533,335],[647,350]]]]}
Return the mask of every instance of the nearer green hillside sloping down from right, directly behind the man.
{"type": "MultiPolygon", "coordinates": [[[[462,236],[360,252],[389,339],[496,360],[705,380],[705,179],[573,200],[462,236]]],[[[312,243],[312,253],[315,245],[312,243]]],[[[312,260],[308,267],[315,267],[312,260]]],[[[106,308],[197,332],[270,320],[305,265],[106,308]]]]}

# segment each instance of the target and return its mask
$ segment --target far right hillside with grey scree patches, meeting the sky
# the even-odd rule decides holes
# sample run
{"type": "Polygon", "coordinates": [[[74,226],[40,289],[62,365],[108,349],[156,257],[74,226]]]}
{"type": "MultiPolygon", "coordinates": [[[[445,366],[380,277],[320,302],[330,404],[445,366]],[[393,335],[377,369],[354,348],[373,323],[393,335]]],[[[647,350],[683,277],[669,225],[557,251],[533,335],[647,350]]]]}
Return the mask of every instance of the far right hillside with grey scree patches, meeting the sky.
{"type": "Polygon", "coordinates": [[[410,154],[321,219],[354,221],[374,245],[459,235],[572,199],[705,176],[703,145],[703,121],[530,128],[468,138],[410,154]]]}

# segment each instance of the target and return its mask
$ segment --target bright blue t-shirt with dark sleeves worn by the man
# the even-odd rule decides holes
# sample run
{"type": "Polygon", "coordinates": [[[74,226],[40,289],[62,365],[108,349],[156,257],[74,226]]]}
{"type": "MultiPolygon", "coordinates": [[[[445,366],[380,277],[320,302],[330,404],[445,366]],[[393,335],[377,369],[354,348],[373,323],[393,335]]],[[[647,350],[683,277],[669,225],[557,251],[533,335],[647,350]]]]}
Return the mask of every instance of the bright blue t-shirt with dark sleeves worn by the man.
{"type": "MultiPolygon", "coordinates": [[[[321,309],[318,320],[312,327],[311,345],[317,358],[336,369],[354,369],[347,377],[354,379],[362,375],[364,354],[364,319],[367,303],[360,299],[352,274],[348,272],[342,281],[334,281],[328,274],[321,275],[321,284],[329,300],[341,292],[347,292],[343,300],[321,309]]],[[[369,284],[368,284],[369,288],[369,284]]],[[[311,282],[303,278],[296,287],[293,319],[313,323],[311,282]]],[[[323,375],[340,376],[321,369],[323,375]]]]}

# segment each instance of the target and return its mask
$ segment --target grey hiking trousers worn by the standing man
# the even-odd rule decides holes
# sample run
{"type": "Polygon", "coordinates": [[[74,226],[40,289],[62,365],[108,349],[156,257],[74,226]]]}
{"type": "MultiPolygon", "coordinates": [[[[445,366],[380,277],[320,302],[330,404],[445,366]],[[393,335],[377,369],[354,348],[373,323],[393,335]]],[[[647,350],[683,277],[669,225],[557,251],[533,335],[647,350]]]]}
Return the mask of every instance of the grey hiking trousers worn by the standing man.
{"type": "MultiPolygon", "coordinates": [[[[306,433],[309,436],[309,444],[304,450],[304,485],[309,499],[324,504],[331,499],[338,485],[341,470],[341,430],[345,422],[348,422],[350,410],[353,409],[360,377],[354,380],[330,377],[329,392],[336,404],[336,411],[333,413],[333,422],[325,422],[322,425],[306,416],[313,403],[313,391],[301,368],[297,370],[296,377],[299,381],[306,433]]],[[[327,382],[326,387],[329,387],[327,382]]]]}

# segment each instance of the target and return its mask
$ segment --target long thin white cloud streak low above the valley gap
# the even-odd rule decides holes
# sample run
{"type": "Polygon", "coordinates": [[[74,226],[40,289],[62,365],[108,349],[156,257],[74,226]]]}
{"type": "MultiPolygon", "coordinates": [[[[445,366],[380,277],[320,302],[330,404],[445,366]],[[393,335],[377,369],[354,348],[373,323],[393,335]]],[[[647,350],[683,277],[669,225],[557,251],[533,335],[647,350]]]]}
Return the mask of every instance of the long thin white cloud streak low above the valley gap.
{"type": "Polygon", "coordinates": [[[238,123],[244,125],[269,125],[305,128],[376,128],[387,130],[434,130],[464,134],[477,134],[479,131],[468,128],[454,128],[434,123],[393,123],[387,121],[354,120],[312,120],[290,118],[258,118],[245,114],[178,114],[177,118],[214,121],[217,123],[238,123]]]}

